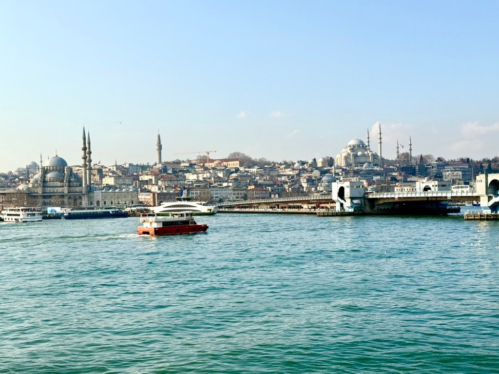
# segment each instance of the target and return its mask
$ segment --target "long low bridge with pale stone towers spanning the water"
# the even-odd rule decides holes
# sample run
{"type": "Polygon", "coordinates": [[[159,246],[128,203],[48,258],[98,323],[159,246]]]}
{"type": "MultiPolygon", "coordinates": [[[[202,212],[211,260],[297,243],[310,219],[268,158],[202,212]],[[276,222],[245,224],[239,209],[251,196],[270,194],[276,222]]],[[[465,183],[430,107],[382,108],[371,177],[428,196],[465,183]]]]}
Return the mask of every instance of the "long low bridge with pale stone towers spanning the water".
{"type": "MultiPolygon", "coordinates": [[[[470,186],[467,186],[470,187],[470,186]]],[[[218,204],[221,212],[302,213],[319,211],[352,214],[441,213],[449,205],[480,205],[487,213],[499,210],[499,174],[479,174],[474,188],[439,189],[435,181],[421,181],[415,190],[373,192],[364,181],[332,182],[332,192],[293,197],[230,201],[218,204]]]]}

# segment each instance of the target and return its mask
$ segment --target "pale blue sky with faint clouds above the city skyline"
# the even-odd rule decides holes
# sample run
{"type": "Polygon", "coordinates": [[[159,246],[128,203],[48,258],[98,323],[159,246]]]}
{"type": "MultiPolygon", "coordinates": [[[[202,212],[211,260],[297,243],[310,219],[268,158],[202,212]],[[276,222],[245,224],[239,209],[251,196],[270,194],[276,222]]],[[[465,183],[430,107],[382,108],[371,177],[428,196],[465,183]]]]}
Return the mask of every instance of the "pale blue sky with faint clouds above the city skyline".
{"type": "Polygon", "coordinates": [[[0,172],[211,152],[499,155],[497,1],[0,1],[0,172]]]}

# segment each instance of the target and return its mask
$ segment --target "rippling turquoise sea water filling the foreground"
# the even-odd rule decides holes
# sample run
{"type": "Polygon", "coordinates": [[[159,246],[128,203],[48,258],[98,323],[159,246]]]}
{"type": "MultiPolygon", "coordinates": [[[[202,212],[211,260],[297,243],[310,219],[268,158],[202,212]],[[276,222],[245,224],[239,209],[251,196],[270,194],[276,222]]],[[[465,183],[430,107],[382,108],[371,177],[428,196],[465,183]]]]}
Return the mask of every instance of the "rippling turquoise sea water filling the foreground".
{"type": "Polygon", "coordinates": [[[499,373],[499,222],[0,224],[0,373],[499,373]]]}

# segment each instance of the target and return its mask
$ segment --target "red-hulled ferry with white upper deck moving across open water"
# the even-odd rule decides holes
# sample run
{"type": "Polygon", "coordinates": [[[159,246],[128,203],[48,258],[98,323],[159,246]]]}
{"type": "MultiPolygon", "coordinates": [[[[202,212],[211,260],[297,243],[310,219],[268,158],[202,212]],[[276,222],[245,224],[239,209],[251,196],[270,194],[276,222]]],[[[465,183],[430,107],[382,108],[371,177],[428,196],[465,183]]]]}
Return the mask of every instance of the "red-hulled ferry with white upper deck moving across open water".
{"type": "Polygon", "coordinates": [[[142,226],[137,227],[139,235],[178,235],[196,234],[208,230],[208,225],[198,224],[192,212],[143,213],[142,226]]]}

